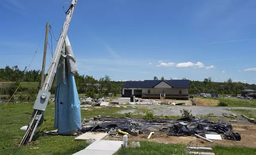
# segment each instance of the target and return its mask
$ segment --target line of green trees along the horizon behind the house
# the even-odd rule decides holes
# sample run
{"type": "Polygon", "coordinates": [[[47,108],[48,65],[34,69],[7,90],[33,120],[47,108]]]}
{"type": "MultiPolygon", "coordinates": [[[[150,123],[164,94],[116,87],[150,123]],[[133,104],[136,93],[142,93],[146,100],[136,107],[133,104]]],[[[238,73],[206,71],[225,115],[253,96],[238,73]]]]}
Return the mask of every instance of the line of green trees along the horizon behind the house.
{"type": "MultiPolygon", "coordinates": [[[[0,95],[12,95],[16,90],[19,82],[38,82],[38,86],[35,88],[30,87],[19,87],[18,92],[28,92],[30,98],[35,97],[40,88],[41,71],[40,70],[29,70],[26,72],[20,70],[18,66],[13,66],[10,68],[6,66],[5,68],[0,68],[0,81],[12,81],[9,85],[0,84],[0,95]],[[34,96],[32,96],[34,95],[34,96]]],[[[100,96],[106,96],[109,93],[114,95],[121,94],[121,86],[123,81],[113,81],[111,77],[105,75],[100,79],[95,79],[93,76],[80,75],[78,72],[74,74],[76,80],[76,86],[79,94],[86,94],[87,96],[95,96],[99,94],[100,96]],[[94,85],[95,84],[95,85],[94,85]]],[[[153,77],[154,80],[158,78],[153,77]]],[[[161,80],[164,80],[161,77],[161,80]]],[[[170,78],[171,79],[171,78],[170,78]]],[[[186,79],[186,77],[182,78],[186,79]]],[[[55,80],[52,83],[50,92],[55,93],[55,80]]],[[[242,89],[253,89],[256,90],[255,84],[248,84],[242,82],[233,82],[231,78],[224,82],[213,82],[211,77],[204,79],[204,81],[191,81],[190,80],[190,94],[197,93],[219,93],[219,94],[229,94],[238,95],[242,89]]]]}

